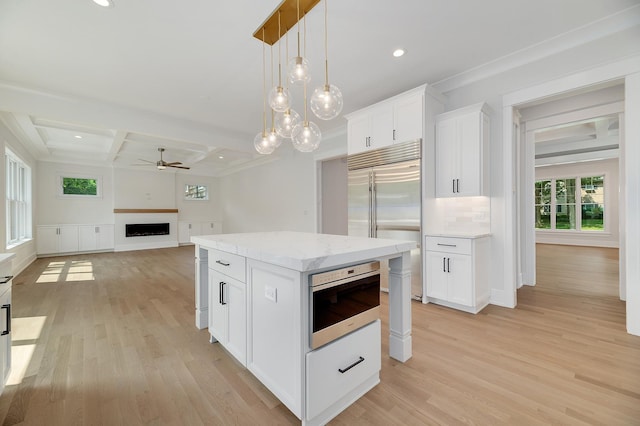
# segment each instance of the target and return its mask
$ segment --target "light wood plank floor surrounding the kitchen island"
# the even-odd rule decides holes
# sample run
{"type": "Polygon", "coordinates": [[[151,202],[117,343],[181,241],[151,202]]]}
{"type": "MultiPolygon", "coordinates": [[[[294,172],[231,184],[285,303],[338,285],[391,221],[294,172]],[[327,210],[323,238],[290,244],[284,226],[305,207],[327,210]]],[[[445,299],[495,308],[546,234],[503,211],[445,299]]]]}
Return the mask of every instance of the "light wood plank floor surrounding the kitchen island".
{"type": "MultiPolygon", "coordinates": [[[[194,326],[193,248],[39,259],[14,279],[4,425],[298,424],[194,326]]],[[[616,297],[413,303],[414,356],[332,425],[639,425],[640,337],[616,297]]],[[[386,305],[386,298],[383,297],[386,305]]]]}

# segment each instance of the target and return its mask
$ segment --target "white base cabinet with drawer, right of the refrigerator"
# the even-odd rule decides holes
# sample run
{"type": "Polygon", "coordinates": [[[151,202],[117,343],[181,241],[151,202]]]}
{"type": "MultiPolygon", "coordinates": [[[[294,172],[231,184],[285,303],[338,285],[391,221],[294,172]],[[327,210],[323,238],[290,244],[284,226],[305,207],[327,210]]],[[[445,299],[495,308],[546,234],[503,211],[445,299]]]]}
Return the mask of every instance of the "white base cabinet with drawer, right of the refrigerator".
{"type": "Polygon", "coordinates": [[[427,299],[478,313],[489,303],[489,238],[427,236],[427,299]]]}

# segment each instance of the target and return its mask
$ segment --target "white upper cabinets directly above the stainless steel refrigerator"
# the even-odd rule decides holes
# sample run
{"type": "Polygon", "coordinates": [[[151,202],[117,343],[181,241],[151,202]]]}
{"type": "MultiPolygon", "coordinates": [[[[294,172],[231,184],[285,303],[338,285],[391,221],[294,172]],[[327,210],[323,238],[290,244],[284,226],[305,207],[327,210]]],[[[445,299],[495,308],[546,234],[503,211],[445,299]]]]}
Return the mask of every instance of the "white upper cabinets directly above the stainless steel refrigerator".
{"type": "Polygon", "coordinates": [[[421,139],[424,86],[347,116],[347,152],[357,154],[394,143],[421,139]]]}

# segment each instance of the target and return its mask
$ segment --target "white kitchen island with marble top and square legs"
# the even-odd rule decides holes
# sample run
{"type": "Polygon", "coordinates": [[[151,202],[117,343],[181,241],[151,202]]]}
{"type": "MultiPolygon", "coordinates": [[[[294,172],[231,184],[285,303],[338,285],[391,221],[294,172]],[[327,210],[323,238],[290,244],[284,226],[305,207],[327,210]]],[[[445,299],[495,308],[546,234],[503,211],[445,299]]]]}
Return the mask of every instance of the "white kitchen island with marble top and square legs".
{"type": "Polygon", "coordinates": [[[192,237],[196,326],[302,424],[325,424],[377,383],[380,321],[312,349],[310,277],[389,259],[389,355],[411,357],[412,241],[298,232],[192,237]]]}

